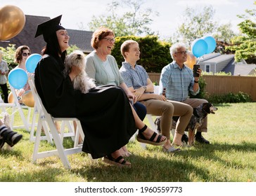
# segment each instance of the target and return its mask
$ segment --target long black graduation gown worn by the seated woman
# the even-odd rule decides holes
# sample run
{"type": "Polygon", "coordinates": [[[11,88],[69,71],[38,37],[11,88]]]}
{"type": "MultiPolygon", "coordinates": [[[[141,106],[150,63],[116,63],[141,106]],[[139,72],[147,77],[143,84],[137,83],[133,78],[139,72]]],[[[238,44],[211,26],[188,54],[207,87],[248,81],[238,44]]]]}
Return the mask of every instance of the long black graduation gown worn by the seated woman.
{"type": "Polygon", "coordinates": [[[136,132],[127,95],[120,87],[105,85],[91,88],[87,94],[74,90],[70,77],[63,76],[60,58],[41,59],[34,82],[46,111],[53,117],[75,117],[82,124],[82,151],[101,158],[129,142],[136,132]]]}

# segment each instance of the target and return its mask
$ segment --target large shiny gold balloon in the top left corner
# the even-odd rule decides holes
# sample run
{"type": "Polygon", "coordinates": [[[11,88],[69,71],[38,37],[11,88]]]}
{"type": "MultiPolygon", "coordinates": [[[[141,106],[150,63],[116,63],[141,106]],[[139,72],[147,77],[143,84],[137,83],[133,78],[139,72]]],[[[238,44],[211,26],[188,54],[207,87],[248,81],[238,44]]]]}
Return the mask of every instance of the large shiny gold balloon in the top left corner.
{"type": "Polygon", "coordinates": [[[23,10],[16,6],[0,8],[0,41],[13,38],[22,31],[25,25],[23,10]]]}

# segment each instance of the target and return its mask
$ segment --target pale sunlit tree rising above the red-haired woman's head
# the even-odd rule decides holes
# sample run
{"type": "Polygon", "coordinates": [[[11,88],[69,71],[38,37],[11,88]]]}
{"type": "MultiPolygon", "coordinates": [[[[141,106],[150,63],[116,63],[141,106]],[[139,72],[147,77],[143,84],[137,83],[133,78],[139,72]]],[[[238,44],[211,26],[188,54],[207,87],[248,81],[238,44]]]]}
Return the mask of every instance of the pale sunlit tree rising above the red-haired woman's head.
{"type": "Polygon", "coordinates": [[[105,26],[112,29],[116,36],[130,36],[141,34],[152,35],[154,32],[148,27],[153,22],[153,13],[151,8],[142,10],[143,0],[122,0],[108,3],[108,13],[110,15],[93,16],[89,22],[91,31],[95,31],[98,27],[105,26]],[[117,15],[120,8],[128,8],[129,11],[124,15],[117,15]]]}

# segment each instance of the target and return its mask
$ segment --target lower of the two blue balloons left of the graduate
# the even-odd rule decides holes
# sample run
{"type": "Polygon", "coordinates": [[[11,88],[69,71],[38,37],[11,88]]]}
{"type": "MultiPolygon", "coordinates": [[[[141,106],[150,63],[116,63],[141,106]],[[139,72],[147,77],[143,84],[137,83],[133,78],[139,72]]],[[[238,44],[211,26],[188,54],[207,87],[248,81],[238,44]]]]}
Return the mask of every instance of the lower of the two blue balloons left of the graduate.
{"type": "Polygon", "coordinates": [[[8,75],[9,84],[15,89],[20,89],[27,83],[27,73],[23,69],[12,69],[8,75]]]}

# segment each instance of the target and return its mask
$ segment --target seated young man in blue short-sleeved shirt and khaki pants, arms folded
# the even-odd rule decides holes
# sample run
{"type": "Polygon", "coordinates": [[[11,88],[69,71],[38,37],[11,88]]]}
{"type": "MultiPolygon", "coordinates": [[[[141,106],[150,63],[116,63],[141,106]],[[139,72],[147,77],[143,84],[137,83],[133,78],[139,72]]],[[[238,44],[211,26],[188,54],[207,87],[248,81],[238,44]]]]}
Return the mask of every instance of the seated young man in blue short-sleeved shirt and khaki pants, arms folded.
{"type": "Polygon", "coordinates": [[[161,116],[161,132],[167,137],[167,141],[162,146],[163,151],[169,153],[179,151],[180,149],[174,148],[170,141],[172,116],[179,116],[172,143],[177,146],[183,146],[181,137],[192,116],[193,109],[187,104],[167,100],[164,95],[153,93],[154,86],[148,77],[148,73],[146,73],[143,66],[136,64],[141,53],[139,43],[133,40],[124,41],[120,50],[125,60],[122,62],[120,74],[124,78],[127,87],[146,106],[148,113],[154,116],[161,116]]]}

